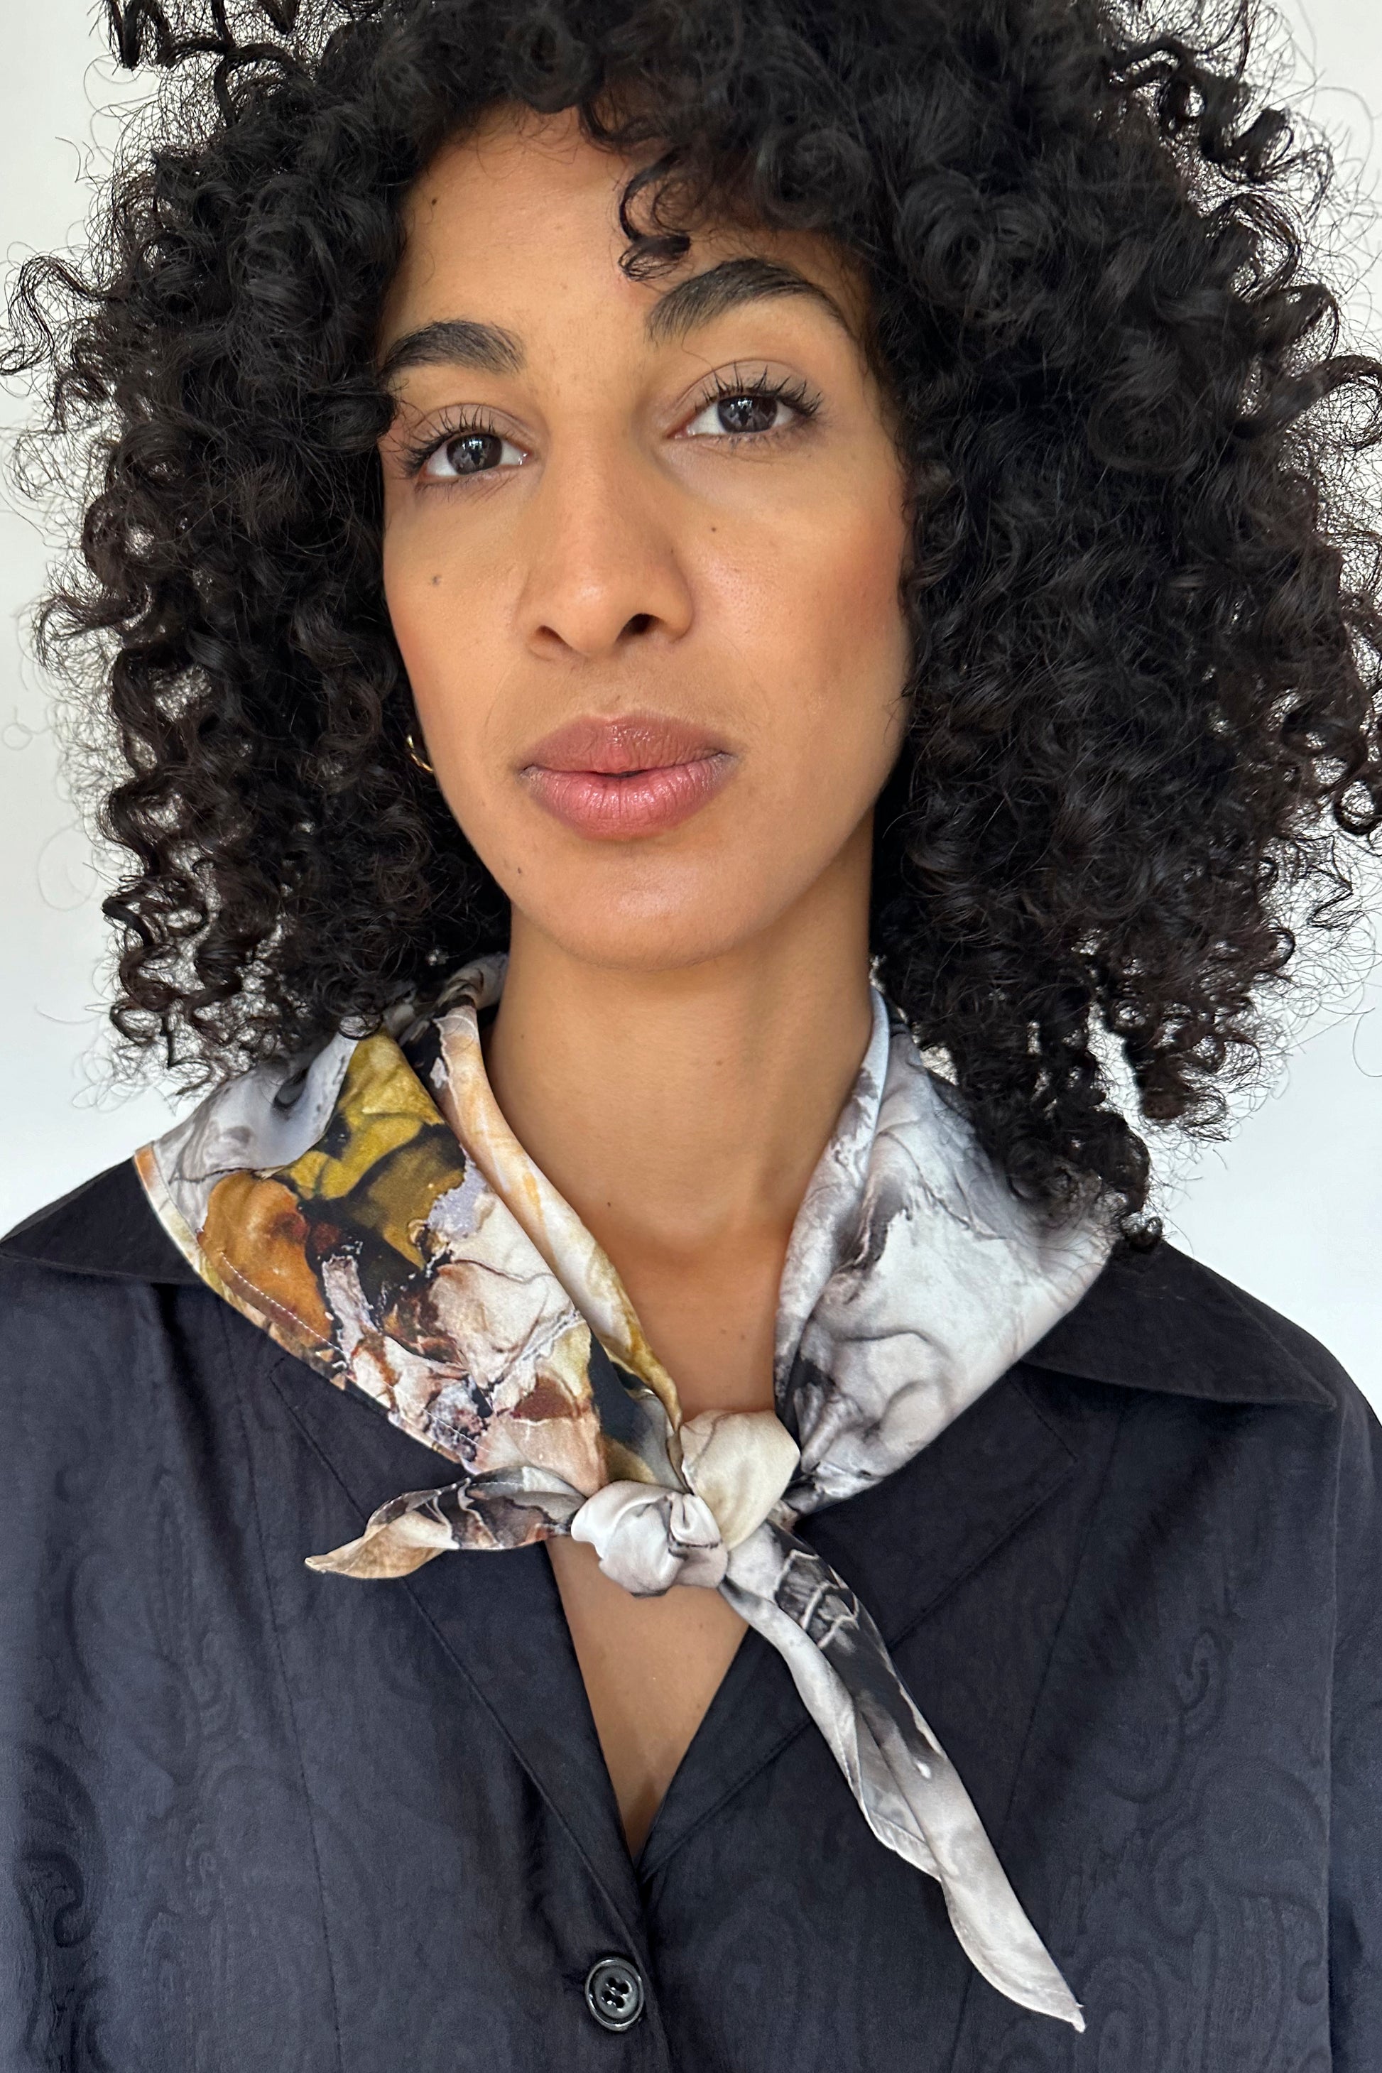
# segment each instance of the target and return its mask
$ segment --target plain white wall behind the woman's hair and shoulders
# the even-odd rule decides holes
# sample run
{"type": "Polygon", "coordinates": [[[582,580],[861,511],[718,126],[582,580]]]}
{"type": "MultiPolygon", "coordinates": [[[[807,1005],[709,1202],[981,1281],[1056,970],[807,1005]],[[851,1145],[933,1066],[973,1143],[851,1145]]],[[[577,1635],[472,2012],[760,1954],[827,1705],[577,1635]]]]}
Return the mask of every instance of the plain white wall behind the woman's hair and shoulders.
{"type": "MultiPolygon", "coordinates": [[[[68,243],[87,207],[118,108],[137,85],[106,56],[99,6],[12,8],[0,75],[0,255],[68,243]]],[[[1295,54],[1283,83],[1330,133],[1367,191],[1382,137],[1378,0],[1289,0],[1295,54]]],[[[1347,255],[1351,311],[1382,338],[1380,249],[1363,226],[1347,255]]],[[[17,396],[8,421],[23,419],[17,396]]],[[[48,547],[33,514],[0,508],[0,1074],[6,1097],[0,1229],[166,1126],[145,1088],[118,1095],[102,1070],[104,922],[91,846],[60,782],[48,688],[23,628],[48,547]]],[[[1314,1016],[1270,1092],[1235,1136],[1198,1157],[1158,1148],[1171,1233],[1324,1339],[1382,1408],[1382,968],[1365,945],[1355,983],[1314,1016]]]]}

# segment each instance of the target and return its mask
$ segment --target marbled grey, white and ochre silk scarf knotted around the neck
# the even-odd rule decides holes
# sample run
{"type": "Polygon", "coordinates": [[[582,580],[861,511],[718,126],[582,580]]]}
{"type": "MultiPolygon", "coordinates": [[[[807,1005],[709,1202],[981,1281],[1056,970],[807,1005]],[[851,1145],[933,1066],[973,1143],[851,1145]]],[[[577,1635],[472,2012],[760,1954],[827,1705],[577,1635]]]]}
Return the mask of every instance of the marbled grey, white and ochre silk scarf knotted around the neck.
{"type": "Polygon", "coordinates": [[[257,1066],[137,1155],[220,1296],[452,1464],[309,1567],[396,1578],[572,1534],[630,1592],[723,1592],[781,1652],[872,1833],[941,1882],[982,1976],[1084,2029],[874,1621],[794,1524],[974,1403],[1073,1308],[1104,1231],[1024,1211],[874,989],[791,1231],[777,1412],[684,1420],[617,1273],[489,1088],[479,1012],[503,966],[466,966],[427,1014],[300,1070],[257,1066]]]}

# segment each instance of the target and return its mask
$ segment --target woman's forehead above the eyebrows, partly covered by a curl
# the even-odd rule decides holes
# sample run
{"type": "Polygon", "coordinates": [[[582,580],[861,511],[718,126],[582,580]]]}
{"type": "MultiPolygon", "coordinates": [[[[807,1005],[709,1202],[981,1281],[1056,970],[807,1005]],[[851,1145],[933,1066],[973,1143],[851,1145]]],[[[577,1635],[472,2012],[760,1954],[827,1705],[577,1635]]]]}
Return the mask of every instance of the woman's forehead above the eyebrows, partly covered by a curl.
{"type": "Polygon", "coordinates": [[[690,226],[690,251],[675,265],[630,280],[620,265],[628,251],[620,199],[636,170],[591,143],[574,112],[491,110],[437,151],[406,199],[381,352],[419,323],[454,315],[551,323],[586,305],[603,319],[644,325],[653,305],[690,276],[750,257],[816,284],[862,336],[862,272],[810,232],[711,220],[690,226]]]}

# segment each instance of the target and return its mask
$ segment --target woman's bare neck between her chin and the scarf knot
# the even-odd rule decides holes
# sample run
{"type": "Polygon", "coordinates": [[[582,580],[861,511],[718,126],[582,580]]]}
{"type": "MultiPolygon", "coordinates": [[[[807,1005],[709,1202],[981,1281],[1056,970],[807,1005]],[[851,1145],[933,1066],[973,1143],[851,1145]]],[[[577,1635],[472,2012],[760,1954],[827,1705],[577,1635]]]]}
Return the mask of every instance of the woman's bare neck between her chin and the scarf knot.
{"type": "MultiPolygon", "coordinates": [[[[860,844],[866,858],[866,827],[860,844]]],[[[514,916],[487,1045],[495,1099],[613,1260],[688,1414],[696,1397],[771,1401],[791,1223],[870,1026],[866,869],[661,972],[593,966],[514,916]],[[736,1379],[721,1343],[702,1389],[707,1310],[738,1321],[744,1354],[736,1379]]]]}

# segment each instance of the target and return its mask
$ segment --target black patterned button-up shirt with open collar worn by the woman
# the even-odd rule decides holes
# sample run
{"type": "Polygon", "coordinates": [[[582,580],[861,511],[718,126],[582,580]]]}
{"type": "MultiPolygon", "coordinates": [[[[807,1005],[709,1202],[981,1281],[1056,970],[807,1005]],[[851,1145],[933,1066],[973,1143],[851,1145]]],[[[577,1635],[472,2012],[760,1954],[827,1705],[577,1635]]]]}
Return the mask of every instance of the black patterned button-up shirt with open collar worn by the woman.
{"type": "Polygon", "coordinates": [[[4,2073],[1382,2067],[1378,1424],[1171,1246],[800,1528],[1084,2036],[974,1973],[756,1634],[634,1864],[541,1546],[309,1571],[435,1455],[209,1294],[131,1167],[0,1289],[4,2073]]]}

